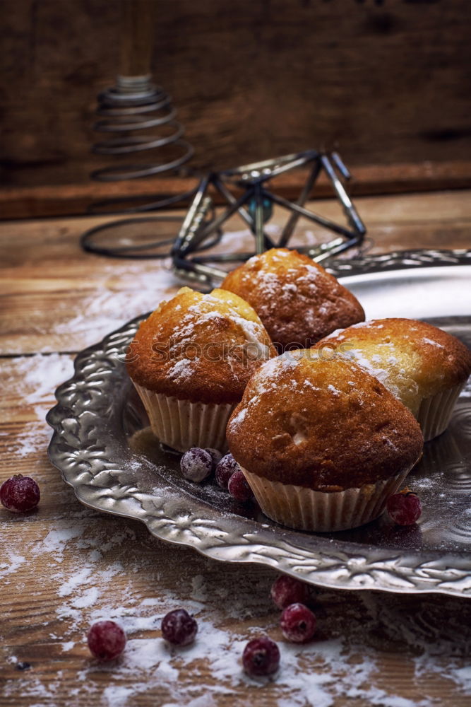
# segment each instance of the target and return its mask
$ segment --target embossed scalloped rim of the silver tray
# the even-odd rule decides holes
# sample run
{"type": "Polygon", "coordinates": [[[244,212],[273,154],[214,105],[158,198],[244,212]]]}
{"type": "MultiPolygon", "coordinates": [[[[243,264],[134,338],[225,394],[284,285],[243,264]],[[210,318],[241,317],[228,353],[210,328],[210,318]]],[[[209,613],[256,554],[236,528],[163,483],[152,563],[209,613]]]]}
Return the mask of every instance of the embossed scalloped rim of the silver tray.
{"type": "MultiPolygon", "coordinates": [[[[338,261],[330,271],[344,277],[438,266],[465,266],[470,274],[471,250],[393,252],[338,261]]],[[[413,272],[410,275],[413,279],[413,272]]],[[[349,286],[352,282],[354,278],[349,278],[349,286]]],[[[213,559],[265,564],[328,588],[471,596],[471,550],[469,554],[399,551],[321,534],[312,535],[315,547],[311,543],[306,549],[302,547],[306,534],[230,510],[221,512],[156,475],[155,467],[133,455],[117,436],[113,425],[116,428],[124,402],[119,395],[107,395],[124,368],[119,354],[142,318],[78,354],[75,375],[56,390],[58,403],[47,414],[54,429],[49,459],[81,503],[141,520],[155,537],[191,546],[213,559]],[[150,477],[155,481],[151,493],[136,484],[137,467],[147,474],[148,484],[150,477]]]]}

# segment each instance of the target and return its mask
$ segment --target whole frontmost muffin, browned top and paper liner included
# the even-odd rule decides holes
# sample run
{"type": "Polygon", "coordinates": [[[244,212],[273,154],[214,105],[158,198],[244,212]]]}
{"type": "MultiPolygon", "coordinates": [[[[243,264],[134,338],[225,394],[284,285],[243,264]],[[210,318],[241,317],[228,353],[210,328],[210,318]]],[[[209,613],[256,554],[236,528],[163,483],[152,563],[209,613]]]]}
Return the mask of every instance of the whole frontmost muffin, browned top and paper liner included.
{"type": "Polygon", "coordinates": [[[269,518],[299,530],[374,520],[422,452],[419,424],[373,375],[300,350],[264,363],[227,424],[269,518]]]}

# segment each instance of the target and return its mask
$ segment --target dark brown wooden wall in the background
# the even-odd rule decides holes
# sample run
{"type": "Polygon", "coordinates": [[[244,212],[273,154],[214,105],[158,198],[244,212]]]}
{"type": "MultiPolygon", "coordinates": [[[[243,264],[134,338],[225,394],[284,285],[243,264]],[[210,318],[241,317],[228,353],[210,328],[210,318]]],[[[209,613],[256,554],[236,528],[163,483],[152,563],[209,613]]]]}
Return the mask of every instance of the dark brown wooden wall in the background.
{"type": "MultiPolygon", "coordinates": [[[[336,146],[362,192],[471,184],[469,0],[147,1],[153,72],[195,147],[192,170],[336,146]]],[[[64,199],[60,213],[80,213],[92,194],[126,190],[88,177],[103,164],[93,111],[119,69],[121,0],[0,11],[4,216],[64,199]]]]}

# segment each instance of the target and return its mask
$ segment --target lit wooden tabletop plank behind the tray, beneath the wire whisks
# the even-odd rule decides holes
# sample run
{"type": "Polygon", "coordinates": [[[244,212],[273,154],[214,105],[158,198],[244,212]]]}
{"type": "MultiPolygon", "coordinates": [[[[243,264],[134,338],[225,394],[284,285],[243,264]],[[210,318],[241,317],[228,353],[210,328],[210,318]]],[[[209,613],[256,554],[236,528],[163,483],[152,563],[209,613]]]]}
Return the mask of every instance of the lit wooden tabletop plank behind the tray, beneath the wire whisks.
{"type": "MultiPolygon", "coordinates": [[[[469,191],[361,197],[357,206],[373,241],[371,252],[470,245],[469,191]]],[[[316,201],[313,208],[328,218],[339,218],[335,201],[316,201]]],[[[282,216],[275,211],[273,223],[280,223],[282,216]]],[[[83,230],[104,221],[83,218],[0,225],[2,354],[78,351],[155,308],[180,286],[167,261],[162,267],[159,260],[115,260],[82,252],[78,239],[83,230]]],[[[155,228],[158,233],[159,227],[155,228]]],[[[227,224],[229,231],[241,229],[245,230],[239,218],[227,224]]],[[[323,232],[299,221],[299,233],[303,240],[323,232]]],[[[229,241],[226,247],[251,245],[248,234],[229,241]]]]}

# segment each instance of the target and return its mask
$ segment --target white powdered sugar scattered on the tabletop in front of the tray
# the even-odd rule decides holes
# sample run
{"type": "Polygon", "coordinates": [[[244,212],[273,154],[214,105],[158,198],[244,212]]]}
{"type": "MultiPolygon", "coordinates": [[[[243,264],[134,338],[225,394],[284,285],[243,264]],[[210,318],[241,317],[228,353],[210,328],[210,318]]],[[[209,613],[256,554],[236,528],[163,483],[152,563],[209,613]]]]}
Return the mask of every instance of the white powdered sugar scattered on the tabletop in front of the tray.
{"type": "MultiPolygon", "coordinates": [[[[169,586],[159,569],[168,550],[145,530],[139,528],[136,535],[123,520],[94,519],[87,509],[83,518],[55,522],[56,532],[48,533],[37,551],[49,566],[41,581],[59,597],[59,631],[56,627],[50,639],[58,642],[61,653],[81,656],[81,667],[73,675],[71,707],[92,701],[105,707],[128,705],[139,696],[155,699],[156,691],[158,703],[167,707],[217,705],[227,696],[237,696],[237,703],[247,707],[268,696],[277,707],[329,707],[338,697],[378,707],[429,707],[423,695],[431,675],[449,677],[458,695],[471,695],[470,671],[460,662],[471,642],[464,615],[470,609],[458,600],[449,600],[447,606],[451,629],[458,621],[463,626],[451,642],[447,636],[440,638],[440,627],[434,624],[439,597],[403,600],[374,592],[318,590],[317,636],[297,646],[283,641],[278,629],[278,612],[268,598],[273,572],[229,565],[225,573],[215,574],[213,562],[178,549],[175,559],[185,571],[169,586]],[[141,547],[140,553],[129,556],[130,541],[141,547]],[[112,582],[117,573],[124,578],[119,593],[112,582]],[[142,597],[143,580],[148,592],[155,588],[154,596],[142,597]],[[183,649],[169,648],[159,631],[163,615],[179,606],[198,621],[196,642],[183,649]],[[103,618],[119,621],[129,638],[124,655],[109,665],[91,660],[85,647],[89,624],[103,618]],[[235,619],[238,628],[229,631],[229,619],[235,619]],[[241,670],[246,641],[261,632],[280,645],[280,671],[273,681],[250,679],[241,670]],[[391,650],[399,650],[397,660],[412,670],[407,696],[391,694],[381,679],[381,655],[391,650]],[[103,672],[105,680],[94,679],[103,672]]],[[[24,575],[18,575],[16,581],[21,580],[24,575]]],[[[15,590],[14,584],[10,590],[15,590]]],[[[11,655],[10,661],[15,660],[11,655]]],[[[42,658],[48,660],[47,655],[42,658]]],[[[60,681],[60,674],[40,681],[32,672],[12,681],[6,694],[13,697],[20,690],[28,703],[50,701],[60,681]]]]}

